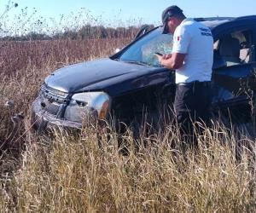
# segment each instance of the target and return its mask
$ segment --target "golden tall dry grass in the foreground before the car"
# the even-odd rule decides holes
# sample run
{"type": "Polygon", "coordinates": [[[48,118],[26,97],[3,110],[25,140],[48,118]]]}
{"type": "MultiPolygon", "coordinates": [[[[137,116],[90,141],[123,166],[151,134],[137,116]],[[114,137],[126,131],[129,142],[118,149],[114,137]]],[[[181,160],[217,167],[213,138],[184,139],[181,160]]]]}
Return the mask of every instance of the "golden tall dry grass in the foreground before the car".
{"type": "Polygon", "coordinates": [[[20,168],[3,178],[2,210],[19,212],[253,212],[255,154],[241,148],[227,130],[201,137],[197,150],[181,152],[177,132],[142,136],[139,150],[131,132],[123,135],[130,155],[117,147],[117,135],[96,130],[81,135],[56,131],[52,139],[29,141],[20,168]],[[227,143],[224,144],[224,141],[227,143]],[[147,147],[144,147],[145,142],[147,147]]]}

